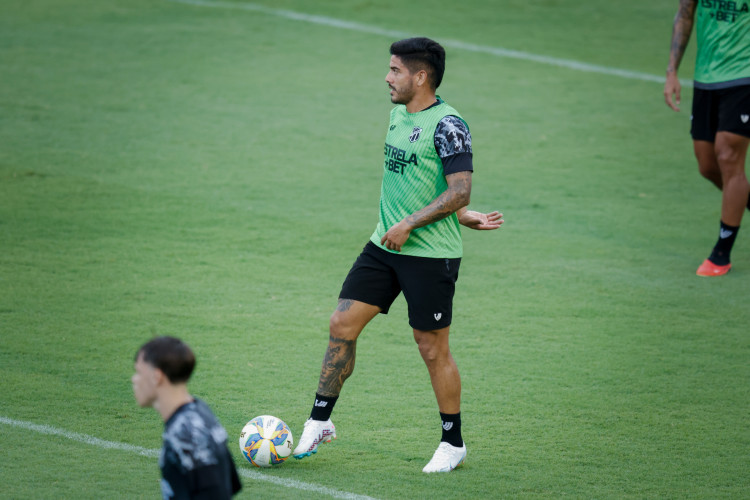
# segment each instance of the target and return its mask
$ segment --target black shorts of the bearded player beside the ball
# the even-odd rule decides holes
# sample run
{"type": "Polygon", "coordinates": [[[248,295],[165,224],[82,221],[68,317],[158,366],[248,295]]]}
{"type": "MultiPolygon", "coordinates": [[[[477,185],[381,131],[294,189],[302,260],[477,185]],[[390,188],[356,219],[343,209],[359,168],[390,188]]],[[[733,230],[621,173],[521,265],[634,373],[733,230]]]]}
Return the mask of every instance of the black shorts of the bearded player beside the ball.
{"type": "Polygon", "coordinates": [[[368,242],[341,287],[340,299],[377,306],[383,314],[403,291],[409,325],[417,330],[450,326],[461,259],[433,259],[387,252],[368,242]]]}

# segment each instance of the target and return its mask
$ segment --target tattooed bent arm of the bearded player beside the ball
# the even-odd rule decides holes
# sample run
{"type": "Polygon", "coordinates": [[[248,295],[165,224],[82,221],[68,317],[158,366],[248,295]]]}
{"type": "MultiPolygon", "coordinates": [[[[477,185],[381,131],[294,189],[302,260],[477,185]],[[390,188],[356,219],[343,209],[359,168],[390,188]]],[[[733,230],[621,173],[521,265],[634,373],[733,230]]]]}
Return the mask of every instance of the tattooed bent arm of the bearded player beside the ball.
{"type": "Polygon", "coordinates": [[[468,205],[471,196],[471,172],[449,174],[445,176],[445,180],[448,182],[448,189],[422,210],[414,212],[388,229],[380,243],[389,250],[400,252],[413,230],[445,219],[468,205]]]}

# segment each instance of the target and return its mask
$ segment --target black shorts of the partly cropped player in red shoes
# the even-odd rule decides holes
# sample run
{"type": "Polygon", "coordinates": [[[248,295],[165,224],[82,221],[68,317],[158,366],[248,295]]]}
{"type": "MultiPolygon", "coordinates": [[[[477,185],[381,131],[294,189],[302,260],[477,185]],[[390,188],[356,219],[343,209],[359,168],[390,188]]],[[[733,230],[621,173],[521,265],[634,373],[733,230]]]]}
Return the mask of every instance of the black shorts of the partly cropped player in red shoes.
{"type": "Polygon", "coordinates": [[[726,89],[693,89],[690,135],[714,142],[716,132],[750,137],[750,85],[726,89]]]}

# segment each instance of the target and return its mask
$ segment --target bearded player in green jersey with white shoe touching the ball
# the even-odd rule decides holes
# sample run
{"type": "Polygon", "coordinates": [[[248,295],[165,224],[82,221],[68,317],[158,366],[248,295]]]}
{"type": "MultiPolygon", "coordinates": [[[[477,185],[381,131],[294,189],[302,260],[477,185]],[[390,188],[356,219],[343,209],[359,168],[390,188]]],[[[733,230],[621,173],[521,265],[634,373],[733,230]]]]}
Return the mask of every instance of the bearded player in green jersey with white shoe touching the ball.
{"type": "Polygon", "coordinates": [[[331,412],[354,370],[357,338],[403,292],[442,420],[440,444],[423,471],[448,472],[466,457],[461,379],[448,345],[462,256],[459,225],[492,230],[503,219],[498,212],[466,208],[471,135],[458,112],[436,95],[445,70],[443,47],[409,38],[393,43],[390,52],[385,81],[396,107],[384,148],[379,221],[344,280],[315,402],[294,456],[310,456],[318,444],[336,437],[331,412]]]}

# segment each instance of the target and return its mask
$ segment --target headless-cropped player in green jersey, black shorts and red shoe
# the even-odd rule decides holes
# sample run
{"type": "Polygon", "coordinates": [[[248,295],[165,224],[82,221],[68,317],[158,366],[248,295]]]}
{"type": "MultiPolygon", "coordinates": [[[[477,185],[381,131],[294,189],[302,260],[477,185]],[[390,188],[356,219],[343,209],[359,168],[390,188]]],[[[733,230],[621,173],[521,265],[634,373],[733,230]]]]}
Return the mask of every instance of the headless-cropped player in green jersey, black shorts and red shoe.
{"type": "Polygon", "coordinates": [[[664,98],[679,111],[677,69],[697,17],[698,55],[690,134],[701,175],[721,190],[719,240],[699,276],[721,276],[732,267],[730,252],[750,184],[745,158],[750,143],[750,0],[680,0],[674,19],[664,98]]]}

